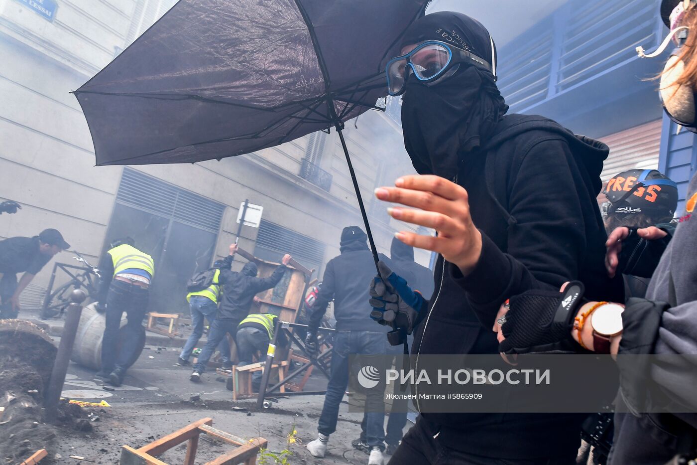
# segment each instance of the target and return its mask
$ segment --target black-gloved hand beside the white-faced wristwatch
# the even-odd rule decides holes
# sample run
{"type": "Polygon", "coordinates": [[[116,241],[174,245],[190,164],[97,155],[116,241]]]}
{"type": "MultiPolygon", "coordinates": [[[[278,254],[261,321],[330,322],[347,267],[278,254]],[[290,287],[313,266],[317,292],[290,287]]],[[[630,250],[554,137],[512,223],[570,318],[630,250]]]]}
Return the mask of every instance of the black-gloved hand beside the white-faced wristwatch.
{"type": "Polygon", "coordinates": [[[505,339],[501,353],[578,353],[581,351],[571,331],[576,311],[581,307],[583,284],[572,281],[564,292],[528,290],[510,298],[510,310],[503,316],[501,331],[505,339]]]}

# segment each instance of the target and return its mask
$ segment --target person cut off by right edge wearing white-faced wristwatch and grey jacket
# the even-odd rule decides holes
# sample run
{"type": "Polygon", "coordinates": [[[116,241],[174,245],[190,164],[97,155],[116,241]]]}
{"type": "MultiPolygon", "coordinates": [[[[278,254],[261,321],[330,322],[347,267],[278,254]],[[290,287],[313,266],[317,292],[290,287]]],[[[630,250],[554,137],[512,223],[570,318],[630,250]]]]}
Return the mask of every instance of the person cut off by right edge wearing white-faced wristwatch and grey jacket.
{"type": "MultiPolygon", "coordinates": [[[[671,28],[671,36],[680,34],[678,43],[682,45],[666,64],[661,99],[671,119],[695,133],[697,125],[685,111],[697,101],[696,5],[689,0],[661,4],[661,17],[671,28]],[[673,89],[666,89],[666,82],[673,89]]],[[[613,355],[697,354],[697,221],[691,218],[696,206],[697,175],[689,183],[685,212],[653,273],[645,299],[631,298],[626,307],[595,302],[587,295],[585,300],[581,283],[562,286],[557,293],[528,291],[512,297],[510,308],[502,307],[498,313],[499,350],[515,354],[564,347],[613,355]],[[558,308],[559,302],[574,294],[572,308],[558,308]]],[[[666,369],[650,363],[648,357],[629,358],[629,362],[617,359],[620,395],[608,463],[687,464],[697,460],[694,363],[684,357],[684,366],[666,369]],[[682,413],[643,413],[668,405],[670,411],[682,413]],[[622,411],[633,413],[619,413],[622,411]]],[[[579,376],[592,383],[592,374],[579,376]]]]}

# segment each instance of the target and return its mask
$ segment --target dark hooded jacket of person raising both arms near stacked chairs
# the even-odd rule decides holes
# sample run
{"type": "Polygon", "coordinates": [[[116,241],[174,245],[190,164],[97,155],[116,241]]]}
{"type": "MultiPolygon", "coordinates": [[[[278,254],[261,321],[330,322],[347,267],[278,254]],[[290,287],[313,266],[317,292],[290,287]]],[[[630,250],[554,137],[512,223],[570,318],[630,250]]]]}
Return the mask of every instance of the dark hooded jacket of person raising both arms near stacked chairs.
{"type": "Polygon", "coordinates": [[[243,320],[252,307],[254,295],[270,289],[281,281],[286,265],[278,265],[271,276],[257,278],[256,263],[246,263],[241,272],[230,270],[233,256],[222,260],[219,281],[222,284],[222,302],[215,318],[218,320],[243,320]]]}

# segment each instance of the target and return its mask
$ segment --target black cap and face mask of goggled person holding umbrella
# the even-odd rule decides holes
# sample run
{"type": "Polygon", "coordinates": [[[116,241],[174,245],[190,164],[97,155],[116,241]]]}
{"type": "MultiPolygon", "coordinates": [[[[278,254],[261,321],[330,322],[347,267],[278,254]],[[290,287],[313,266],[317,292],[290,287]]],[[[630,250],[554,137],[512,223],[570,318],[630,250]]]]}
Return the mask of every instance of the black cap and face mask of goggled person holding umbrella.
{"type": "MultiPolygon", "coordinates": [[[[402,46],[441,40],[496,66],[496,48],[482,24],[461,13],[433,13],[406,31],[402,46]]],[[[429,87],[411,75],[402,96],[404,147],[416,171],[452,179],[459,161],[483,145],[508,110],[492,73],[461,64],[429,87]]]]}

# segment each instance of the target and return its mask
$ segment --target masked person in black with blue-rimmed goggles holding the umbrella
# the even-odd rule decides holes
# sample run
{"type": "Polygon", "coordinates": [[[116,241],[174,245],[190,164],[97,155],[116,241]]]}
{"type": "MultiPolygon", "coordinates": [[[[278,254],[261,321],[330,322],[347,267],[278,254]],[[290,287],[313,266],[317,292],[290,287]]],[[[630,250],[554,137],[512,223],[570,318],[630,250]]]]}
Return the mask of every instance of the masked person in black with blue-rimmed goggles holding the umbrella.
{"type": "MultiPolygon", "coordinates": [[[[388,84],[403,95],[404,144],[420,175],[376,196],[415,207],[388,212],[438,236],[397,238],[440,255],[431,300],[381,264],[371,302],[379,323],[415,330],[416,372],[422,354],[498,353],[491,327],[514,293],[558,289],[572,277],[587,280],[590,295],[622,299],[621,281],[605,277],[595,200],[606,145],[544,117],[505,115],[493,39],[466,15],[427,15],[401,45],[388,84]]],[[[583,415],[433,413],[418,398],[415,406],[421,415],[391,464],[569,464],[579,448],[583,415]]]]}

